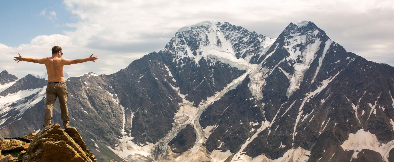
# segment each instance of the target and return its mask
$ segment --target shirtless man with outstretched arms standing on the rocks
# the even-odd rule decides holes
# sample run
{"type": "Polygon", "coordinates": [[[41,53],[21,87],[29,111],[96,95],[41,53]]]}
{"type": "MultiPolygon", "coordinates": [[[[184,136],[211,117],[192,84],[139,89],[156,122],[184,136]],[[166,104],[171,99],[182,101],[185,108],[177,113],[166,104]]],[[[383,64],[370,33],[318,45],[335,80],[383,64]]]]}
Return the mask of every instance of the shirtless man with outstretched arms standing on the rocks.
{"type": "Polygon", "coordinates": [[[63,126],[65,129],[70,128],[69,110],[67,109],[67,87],[64,80],[64,65],[84,63],[86,61],[96,62],[97,56],[93,57],[93,54],[85,59],[65,59],[61,58],[63,52],[61,47],[54,46],[52,48],[52,57],[44,57],[42,59],[31,59],[24,58],[18,53],[19,57],[14,57],[15,61],[27,61],[31,63],[45,64],[46,73],[48,74],[48,86],[46,87],[46,109],[44,117],[44,127],[48,126],[52,120],[52,109],[56,101],[59,98],[61,119],[63,120],[63,126]]]}

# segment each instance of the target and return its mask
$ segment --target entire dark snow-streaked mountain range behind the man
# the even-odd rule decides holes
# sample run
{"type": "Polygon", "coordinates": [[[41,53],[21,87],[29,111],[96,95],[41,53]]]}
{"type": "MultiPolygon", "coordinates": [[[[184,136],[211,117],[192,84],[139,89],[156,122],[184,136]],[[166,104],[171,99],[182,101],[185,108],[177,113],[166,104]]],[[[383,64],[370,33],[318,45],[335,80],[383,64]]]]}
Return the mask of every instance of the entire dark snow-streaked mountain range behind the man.
{"type": "MultiPolygon", "coordinates": [[[[274,39],[201,22],[119,72],[66,83],[71,125],[107,159],[394,157],[394,68],[346,52],[312,22],[292,22],[274,39]]],[[[41,129],[46,87],[38,87],[0,97],[0,136],[41,129]]]]}

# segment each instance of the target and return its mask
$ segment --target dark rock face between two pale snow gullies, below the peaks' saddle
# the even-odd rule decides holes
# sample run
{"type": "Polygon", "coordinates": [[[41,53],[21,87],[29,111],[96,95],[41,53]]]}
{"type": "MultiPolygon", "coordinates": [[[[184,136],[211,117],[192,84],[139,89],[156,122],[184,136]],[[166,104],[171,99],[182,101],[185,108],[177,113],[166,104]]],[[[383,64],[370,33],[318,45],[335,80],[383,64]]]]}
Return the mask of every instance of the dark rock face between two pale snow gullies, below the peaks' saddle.
{"type": "Polygon", "coordinates": [[[249,79],[245,79],[241,85],[227,92],[201,115],[201,127],[205,128],[215,123],[218,125],[207,139],[208,151],[220,149],[237,152],[247,140],[244,135],[251,136],[250,130],[260,127],[258,122],[264,120],[260,112],[261,103],[249,99],[253,96],[247,88],[248,82],[249,79]]]}

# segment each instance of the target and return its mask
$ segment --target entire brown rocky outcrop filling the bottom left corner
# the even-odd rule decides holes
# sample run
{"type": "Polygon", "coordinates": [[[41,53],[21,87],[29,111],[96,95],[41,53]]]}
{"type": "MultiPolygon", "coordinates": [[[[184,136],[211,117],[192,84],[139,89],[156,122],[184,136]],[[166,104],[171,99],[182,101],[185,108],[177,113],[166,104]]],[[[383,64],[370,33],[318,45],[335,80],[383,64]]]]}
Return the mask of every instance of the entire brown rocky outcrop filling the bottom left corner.
{"type": "Polygon", "coordinates": [[[96,161],[76,128],[61,129],[58,123],[52,123],[39,133],[30,133],[23,138],[0,140],[0,162],[96,161]]]}

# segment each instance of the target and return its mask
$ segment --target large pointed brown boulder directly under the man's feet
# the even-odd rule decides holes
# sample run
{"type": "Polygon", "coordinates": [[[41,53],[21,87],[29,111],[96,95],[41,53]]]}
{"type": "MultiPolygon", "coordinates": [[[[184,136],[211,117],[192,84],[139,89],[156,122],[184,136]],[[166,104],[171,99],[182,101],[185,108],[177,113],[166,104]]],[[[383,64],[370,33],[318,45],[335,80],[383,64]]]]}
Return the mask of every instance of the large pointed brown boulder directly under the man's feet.
{"type": "Polygon", "coordinates": [[[22,161],[95,162],[97,159],[86,149],[75,128],[64,131],[58,123],[52,123],[35,134],[22,161]]]}

